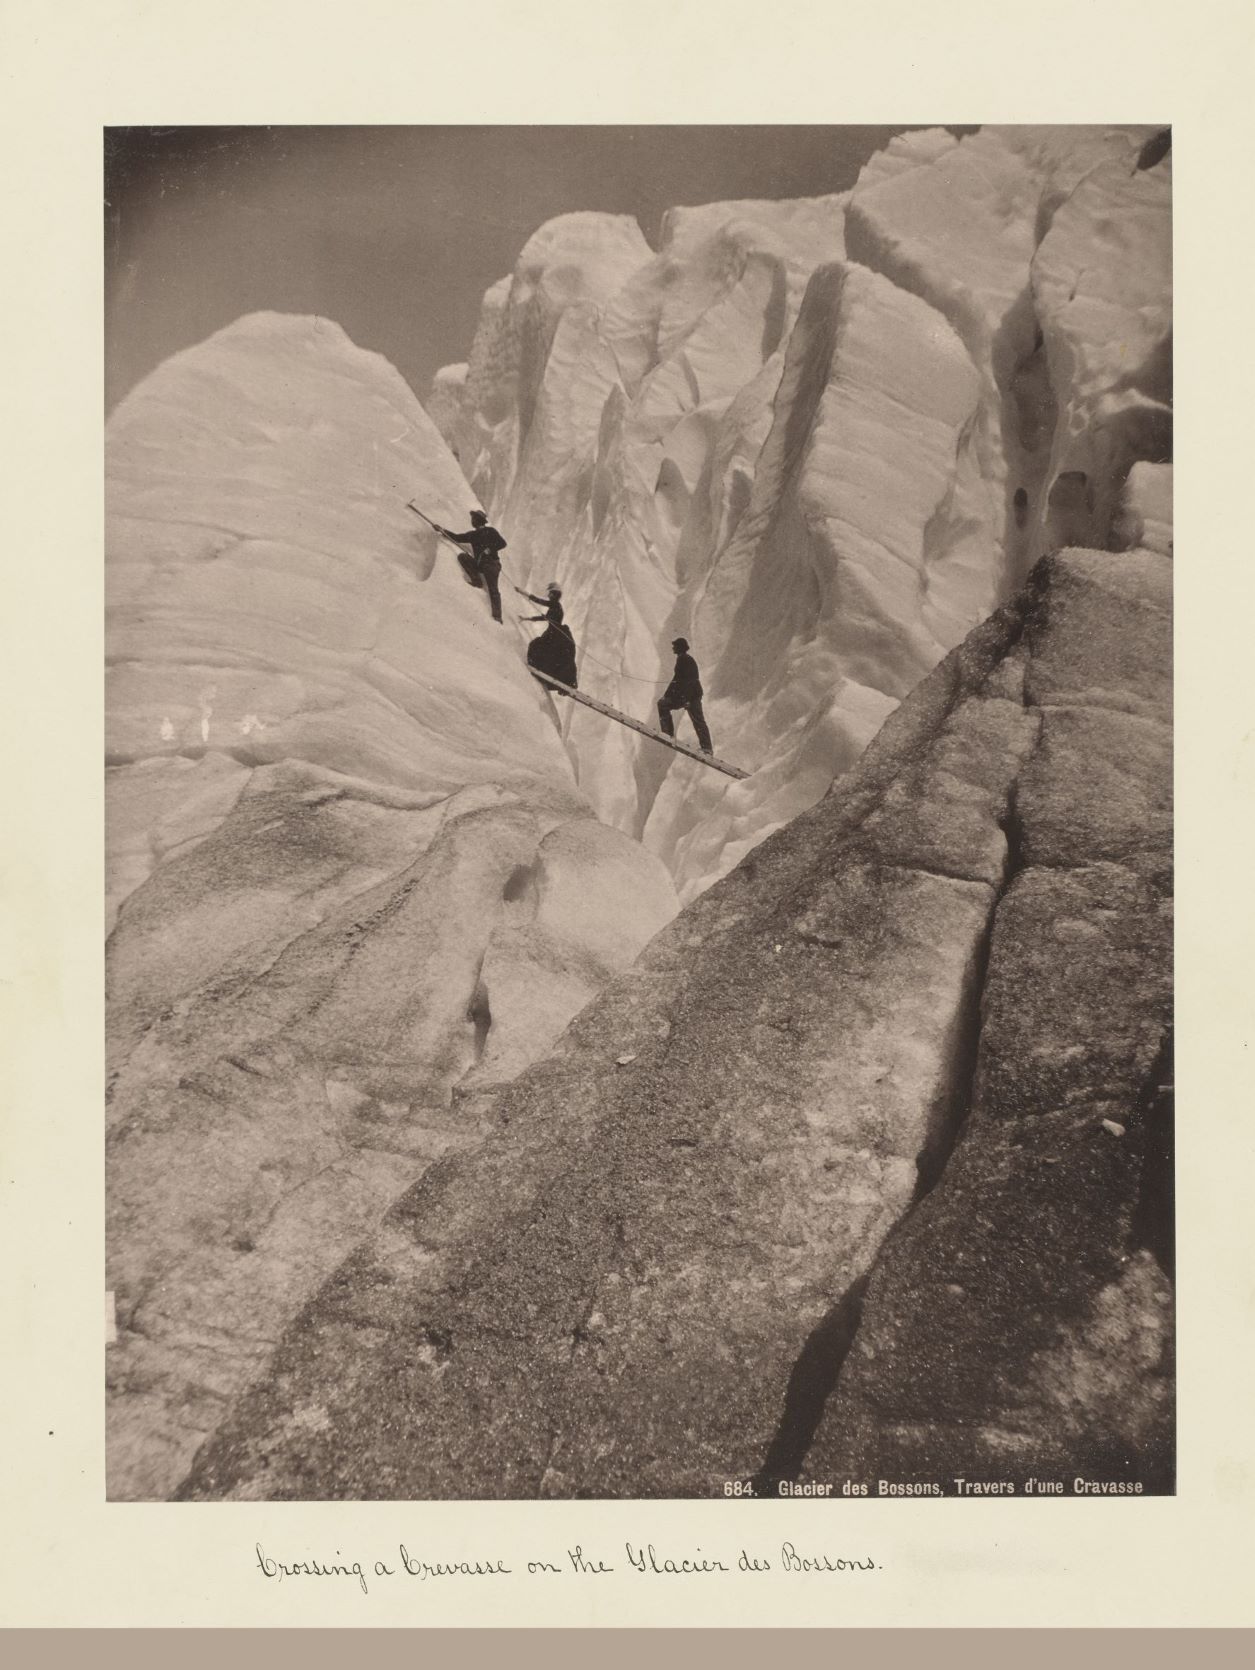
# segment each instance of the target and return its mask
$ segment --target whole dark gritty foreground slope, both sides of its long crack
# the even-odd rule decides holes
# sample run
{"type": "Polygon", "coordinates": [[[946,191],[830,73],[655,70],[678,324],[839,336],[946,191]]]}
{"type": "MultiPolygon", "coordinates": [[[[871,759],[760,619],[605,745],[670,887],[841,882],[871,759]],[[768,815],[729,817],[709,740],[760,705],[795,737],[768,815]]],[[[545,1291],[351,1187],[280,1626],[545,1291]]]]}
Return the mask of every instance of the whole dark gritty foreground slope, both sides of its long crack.
{"type": "Polygon", "coordinates": [[[180,1495],[1161,1480],[1168,573],[1044,559],[498,1092],[180,1495]]]}

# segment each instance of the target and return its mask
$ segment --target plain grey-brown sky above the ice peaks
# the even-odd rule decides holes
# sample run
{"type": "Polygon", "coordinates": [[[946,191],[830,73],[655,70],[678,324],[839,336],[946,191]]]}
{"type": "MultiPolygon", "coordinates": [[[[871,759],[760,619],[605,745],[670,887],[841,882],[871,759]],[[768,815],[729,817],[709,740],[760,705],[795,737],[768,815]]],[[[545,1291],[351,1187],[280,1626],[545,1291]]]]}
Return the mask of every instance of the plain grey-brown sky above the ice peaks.
{"type": "Polygon", "coordinates": [[[105,130],[105,406],[256,309],[334,319],[419,399],[556,214],[846,190],[902,127],[105,130]]]}

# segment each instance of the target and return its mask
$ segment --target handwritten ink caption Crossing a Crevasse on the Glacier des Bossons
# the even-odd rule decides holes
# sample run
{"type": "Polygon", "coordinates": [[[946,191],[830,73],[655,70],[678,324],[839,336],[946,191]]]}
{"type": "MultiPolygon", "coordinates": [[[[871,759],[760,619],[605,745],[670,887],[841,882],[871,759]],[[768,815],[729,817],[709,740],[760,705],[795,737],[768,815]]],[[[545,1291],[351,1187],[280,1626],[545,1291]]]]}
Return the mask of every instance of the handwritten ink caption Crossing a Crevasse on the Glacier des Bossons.
{"type": "Polygon", "coordinates": [[[692,1548],[687,1553],[678,1550],[658,1550],[653,1543],[623,1543],[623,1551],[610,1553],[600,1550],[585,1553],[583,1543],[563,1548],[555,1558],[508,1558],[496,1560],[433,1560],[411,1553],[404,1543],[398,1545],[396,1555],[386,1560],[348,1558],[339,1548],[331,1560],[281,1560],[267,1555],[261,1543],[254,1545],[257,1570],[264,1578],[282,1581],[284,1578],[349,1578],[363,1595],[371,1593],[371,1583],[383,1585],[393,1578],[406,1581],[416,1578],[419,1583],[443,1578],[598,1578],[613,1571],[633,1571],[645,1578],[668,1576],[710,1576],[719,1571],[749,1576],[767,1573],[790,1575],[854,1575],[859,1571],[881,1571],[882,1566],[871,1555],[834,1555],[824,1550],[799,1550],[794,1543],[779,1543],[769,1550],[739,1548],[735,1553],[704,1553],[692,1548]]]}

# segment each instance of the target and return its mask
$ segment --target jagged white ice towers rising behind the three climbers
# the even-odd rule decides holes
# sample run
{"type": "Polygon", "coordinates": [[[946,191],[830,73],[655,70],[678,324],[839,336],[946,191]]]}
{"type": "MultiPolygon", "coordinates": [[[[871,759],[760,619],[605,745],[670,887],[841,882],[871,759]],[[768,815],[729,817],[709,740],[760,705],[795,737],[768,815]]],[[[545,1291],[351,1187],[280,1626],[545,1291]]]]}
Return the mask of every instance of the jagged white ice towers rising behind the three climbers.
{"type": "MultiPolygon", "coordinates": [[[[541,227],[431,412],[582,685],[694,643],[705,773],[583,710],[580,787],[690,898],[1064,543],[1170,524],[1170,160],[1145,129],[904,135],[852,192],[541,227]]],[[[1148,533],[1148,529],[1151,529],[1148,533]]],[[[685,725],[687,721],[680,721],[685,725]]]]}

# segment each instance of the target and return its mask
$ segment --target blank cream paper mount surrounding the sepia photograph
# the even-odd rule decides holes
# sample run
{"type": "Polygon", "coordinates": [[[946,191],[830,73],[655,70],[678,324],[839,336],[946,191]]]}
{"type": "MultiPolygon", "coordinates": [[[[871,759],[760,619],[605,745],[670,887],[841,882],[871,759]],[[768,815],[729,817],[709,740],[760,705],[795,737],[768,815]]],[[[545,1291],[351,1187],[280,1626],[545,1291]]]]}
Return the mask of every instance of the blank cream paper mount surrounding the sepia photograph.
{"type": "MultiPolygon", "coordinates": [[[[346,10],[323,8],[338,20],[346,10]]],[[[1242,1121],[1243,1049],[1250,1034],[1247,947],[1250,895],[1245,830],[1252,767],[1250,691],[1240,668],[1238,626],[1252,618],[1250,566],[1232,531],[1232,484],[1245,479],[1240,429],[1223,421],[1243,389],[1240,327],[1247,299],[1250,229],[1238,210],[1243,159],[1238,129],[1252,52],[1237,7],[1215,3],[1180,17],[1161,0],[1111,5],[1101,17],[1080,0],[1053,10],[1053,33],[1016,23],[1004,7],[964,0],[954,8],[879,8],[854,33],[815,5],[785,7],[792,23],[764,43],[762,13],[702,0],[605,13],[568,0],[526,15],[505,0],[460,22],[393,0],[351,8],[353,48],[336,28],[309,30],[309,8],[282,0],[212,8],[139,5],[97,12],[85,0],[52,12],[15,5],[5,33],[20,75],[5,122],[5,182],[28,252],[10,272],[10,317],[22,322],[8,458],[22,494],[7,504],[10,561],[23,584],[5,623],[5,676],[12,775],[22,782],[20,817],[5,860],[13,912],[8,1059],[18,1117],[10,1141],[17,1197],[3,1224],[12,1274],[10,1343],[25,1373],[7,1388],[7,1470],[22,1511],[5,1530],[3,1613],[18,1623],[194,1625],[231,1622],[371,1628],[481,1622],[483,1602],[431,1597],[371,1607],[341,1595],[257,1583],[249,1548],[257,1540],[394,1543],[413,1526],[438,1525],[446,1541],[473,1548],[490,1530],[503,1545],[536,1533],[558,1543],[622,1540],[627,1526],[648,1540],[694,1545],[729,1533],[722,1503],[443,1503],[443,1505],[105,1505],[100,1445],[102,1247],[99,1086],[100,1049],[100,695],[102,665],[97,498],[100,456],[100,129],[149,122],[456,120],[465,87],[450,68],[476,65],[501,122],[536,120],[759,120],[782,109],[826,120],[826,68],[846,73],[842,120],[884,119],[869,110],[892,89],[897,115],[912,119],[1058,122],[1123,115],[1163,120],[1175,132],[1180,446],[1178,518],[1191,553],[1176,593],[1178,663],[1178,1074],[1190,1119],[1178,1144],[1181,1234],[1180,1450],[1176,1498],[1131,1503],[866,1505],[842,1538],[886,1550],[892,1575],[879,1593],[777,1590],[747,1600],[677,1585],[640,1598],[617,1585],[575,1607],[511,1597],[500,1623],[683,1625],[1128,1625],[1245,1623],[1243,1540],[1250,1531],[1255,1458],[1247,1411],[1252,1389],[1250,1232],[1245,1164],[1252,1139],[1242,1121]],[[496,32],[485,32],[485,17],[496,32]],[[264,13],[264,17],[259,17],[264,13]],[[714,15],[712,15],[714,13],[714,15]],[[1200,13],[1220,32],[1200,27],[1200,13]],[[259,30],[259,22],[269,30],[259,30]],[[291,33],[284,28],[292,25],[291,33]],[[440,67],[411,75],[398,42],[426,25],[445,42],[440,67]],[[665,25],[667,57],[650,28],[665,25]],[[1136,25],[1133,28],[1133,25],[1136,25]],[[904,63],[904,28],[909,60],[904,63]],[[792,75],[782,75],[807,50],[792,75]],[[831,42],[831,57],[817,50],[831,42]],[[1080,58],[1078,43],[1086,55],[1080,58]],[[391,47],[391,50],[389,50],[391,47]],[[1232,48],[1232,50],[1228,50],[1232,48]],[[964,57],[966,52],[966,57],[964,57]],[[705,53],[705,77],[685,62],[705,53]],[[592,73],[615,65],[615,92],[592,73]],[[561,65],[558,90],[550,85],[561,65]],[[1111,67],[1121,84],[1113,89],[1111,67]],[[528,67],[533,68],[528,80],[528,67]],[[356,75],[354,75],[356,70],[356,75]],[[991,73],[993,70],[993,73],[991,73]],[[1014,72],[1014,73],[1013,73],[1014,72]],[[414,87],[421,89],[421,99],[414,87]],[[541,92],[536,92],[536,87],[541,92]],[[565,97],[563,97],[565,95],[565,97]],[[419,109],[421,105],[421,109],[419,109]],[[525,112],[530,112],[525,114],[525,112]],[[1064,115],[1064,112],[1068,112],[1064,115]],[[1217,269],[1215,229],[1225,227],[1217,269]],[[48,351],[55,344],[57,352],[48,351]],[[1220,409],[1220,418],[1217,418],[1220,409]],[[72,489],[67,493],[67,481],[72,489]],[[77,488],[77,491],[74,491],[77,488]],[[1228,489],[1228,491],[1227,491],[1228,489]],[[55,506],[50,529],[47,506],[55,506]],[[1217,563],[1223,608],[1217,610],[1217,563]],[[1225,888],[1225,880],[1238,883],[1225,888]],[[20,1186],[18,1186],[20,1184],[20,1186]],[[1240,1192],[1242,1191],[1242,1192],[1240,1192]],[[87,1279],[87,1274],[92,1279],[87,1279]],[[95,1341],[100,1339],[99,1348],[95,1341]],[[89,1344],[90,1341],[90,1344],[89,1344]],[[43,1433],[47,1431],[47,1440],[43,1433]],[[35,1436],[40,1446],[35,1446],[35,1436]],[[1036,1516],[1029,1523],[1024,1510],[1036,1516]],[[1058,1515],[1046,1525],[1041,1518],[1058,1515]],[[175,1516],[175,1518],[172,1518],[175,1516]],[[866,1518],[864,1518],[866,1516],[866,1518]],[[677,1530],[678,1528],[678,1530],[677,1530]],[[705,1541],[704,1541],[705,1540],[705,1541]]],[[[784,20],[782,20],[784,22],[784,20]]],[[[421,37],[431,58],[429,35],[421,37]]],[[[1245,344],[1243,344],[1245,346],[1245,344]]],[[[815,1503],[755,1508],[755,1535],[814,1531],[815,1503]]]]}

